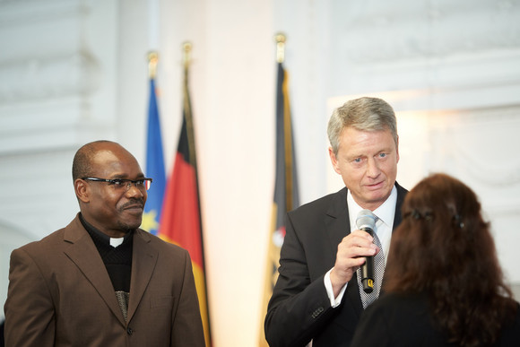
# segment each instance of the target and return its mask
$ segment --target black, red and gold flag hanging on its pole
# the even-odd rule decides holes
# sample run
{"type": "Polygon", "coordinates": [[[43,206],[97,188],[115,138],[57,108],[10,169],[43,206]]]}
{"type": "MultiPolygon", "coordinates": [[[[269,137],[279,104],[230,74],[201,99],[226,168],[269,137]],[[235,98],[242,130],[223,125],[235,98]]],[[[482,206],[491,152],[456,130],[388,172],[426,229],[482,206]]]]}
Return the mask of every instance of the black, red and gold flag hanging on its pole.
{"type": "MultiPolygon", "coordinates": [[[[191,48],[186,45],[188,44],[185,44],[186,50],[191,48]]],[[[173,171],[166,184],[159,236],[161,239],[187,249],[191,256],[204,336],[206,346],[209,347],[211,346],[211,331],[195,157],[195,132],[188,91],[188,67],[189,60],[185,58],[182,126],[173,171]]]]}

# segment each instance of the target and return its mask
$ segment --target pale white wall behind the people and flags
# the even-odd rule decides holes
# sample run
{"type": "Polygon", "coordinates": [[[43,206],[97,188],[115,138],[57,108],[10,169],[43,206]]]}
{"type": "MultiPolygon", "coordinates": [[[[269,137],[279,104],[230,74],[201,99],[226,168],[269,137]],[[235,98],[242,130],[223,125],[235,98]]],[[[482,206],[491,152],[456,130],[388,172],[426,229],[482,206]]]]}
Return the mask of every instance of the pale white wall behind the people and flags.
{"type": "MultiPolygon", "coordinates": [[[[181,44],[190,40],[213,345],[256,345],[273,199],[273,36],[282,30],[302,201],[341,186],[326,155],[332,109],[355,95],[382,95],[398,112],[398,180],[412,187],[430,171],[445,170],[473,187],[495,225],[508,279],[520,283],[513,247],[520,234],[511,228],[520,218],[519,6],[0,1],[2,235],[22,230],[40,239],[74,217],[70,169],[82,143],[116,140],[144,166],[145,56],[152,48],[160,53],[160,117],[171,169],[181,44]]],[[[12,241],[14,247],[18,240],[12,241]]],[[[0,251],[5,271],[8,250],[0,251]]]]}

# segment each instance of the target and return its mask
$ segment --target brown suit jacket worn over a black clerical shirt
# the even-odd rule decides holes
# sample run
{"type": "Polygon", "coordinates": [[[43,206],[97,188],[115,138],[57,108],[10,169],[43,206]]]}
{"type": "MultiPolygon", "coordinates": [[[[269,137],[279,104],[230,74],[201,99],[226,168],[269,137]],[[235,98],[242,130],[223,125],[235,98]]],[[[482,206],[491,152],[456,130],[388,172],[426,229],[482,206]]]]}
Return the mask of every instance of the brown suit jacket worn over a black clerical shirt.
{"type": "Polygon", "coordinates": [[[135,230],[126,323],[77,216],[13,251],[4,311],[8,346],[204,346],[187,251],[135,230]]]}

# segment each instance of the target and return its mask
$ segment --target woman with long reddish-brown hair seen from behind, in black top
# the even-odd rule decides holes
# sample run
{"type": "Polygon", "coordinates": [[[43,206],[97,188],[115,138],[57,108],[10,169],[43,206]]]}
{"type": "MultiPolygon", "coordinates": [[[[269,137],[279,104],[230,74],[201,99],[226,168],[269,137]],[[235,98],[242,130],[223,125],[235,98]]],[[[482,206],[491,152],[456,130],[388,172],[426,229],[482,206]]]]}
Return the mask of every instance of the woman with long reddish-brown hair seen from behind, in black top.
{"type": "Polygon", "coordinates": [[[520,346],[520,306],[472,189],[434,174],[402,212],[386,294],[365,310],[351,346],[520,346]]]}

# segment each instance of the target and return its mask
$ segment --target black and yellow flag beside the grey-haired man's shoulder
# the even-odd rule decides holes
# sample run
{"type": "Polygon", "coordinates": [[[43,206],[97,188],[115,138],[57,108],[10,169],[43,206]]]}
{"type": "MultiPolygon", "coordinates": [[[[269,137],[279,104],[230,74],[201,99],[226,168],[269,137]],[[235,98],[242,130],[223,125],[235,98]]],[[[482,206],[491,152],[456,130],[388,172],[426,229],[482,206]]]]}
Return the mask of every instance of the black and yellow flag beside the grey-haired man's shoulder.
{"type": "MultiPolygon", "coordinates": [[[[277,37],[278,39],[278,37],[277,37]]],[[[274,284],[278,278],[280,265],[280,249],[285,237],[285,213],[299,206],[298,179],[296,174],[296,158],[294,139],[290,120],[290,103],[288,74],[283,68],[283,59],[278,58],[278,77],[276,85],[276,153],[273,212],[267,265],[264,279],[264,299],[262,306],[260,346],[267,346],[264,337],[264,317],[267,304],[273,294],[274,284]]]]}

